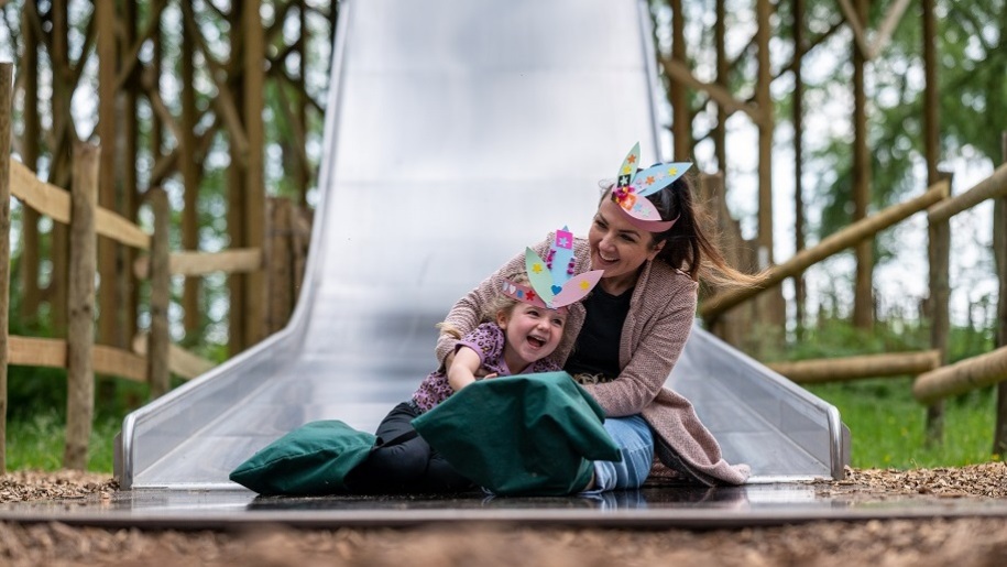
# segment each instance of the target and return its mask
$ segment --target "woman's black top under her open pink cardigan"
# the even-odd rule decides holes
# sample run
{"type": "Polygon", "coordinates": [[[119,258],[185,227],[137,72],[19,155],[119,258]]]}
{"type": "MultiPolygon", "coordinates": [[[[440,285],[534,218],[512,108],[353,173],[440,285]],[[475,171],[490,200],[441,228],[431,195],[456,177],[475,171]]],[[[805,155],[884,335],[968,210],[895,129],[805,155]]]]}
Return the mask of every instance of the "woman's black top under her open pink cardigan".
{"type": "Polygon", "coordinates": [[[595,286],[584,299],[584,325],[563,368],[570,374],[601,374],[602,382],[619,378],[619,344],[630,313],[633,290],[620,295],[595,286]]]}

